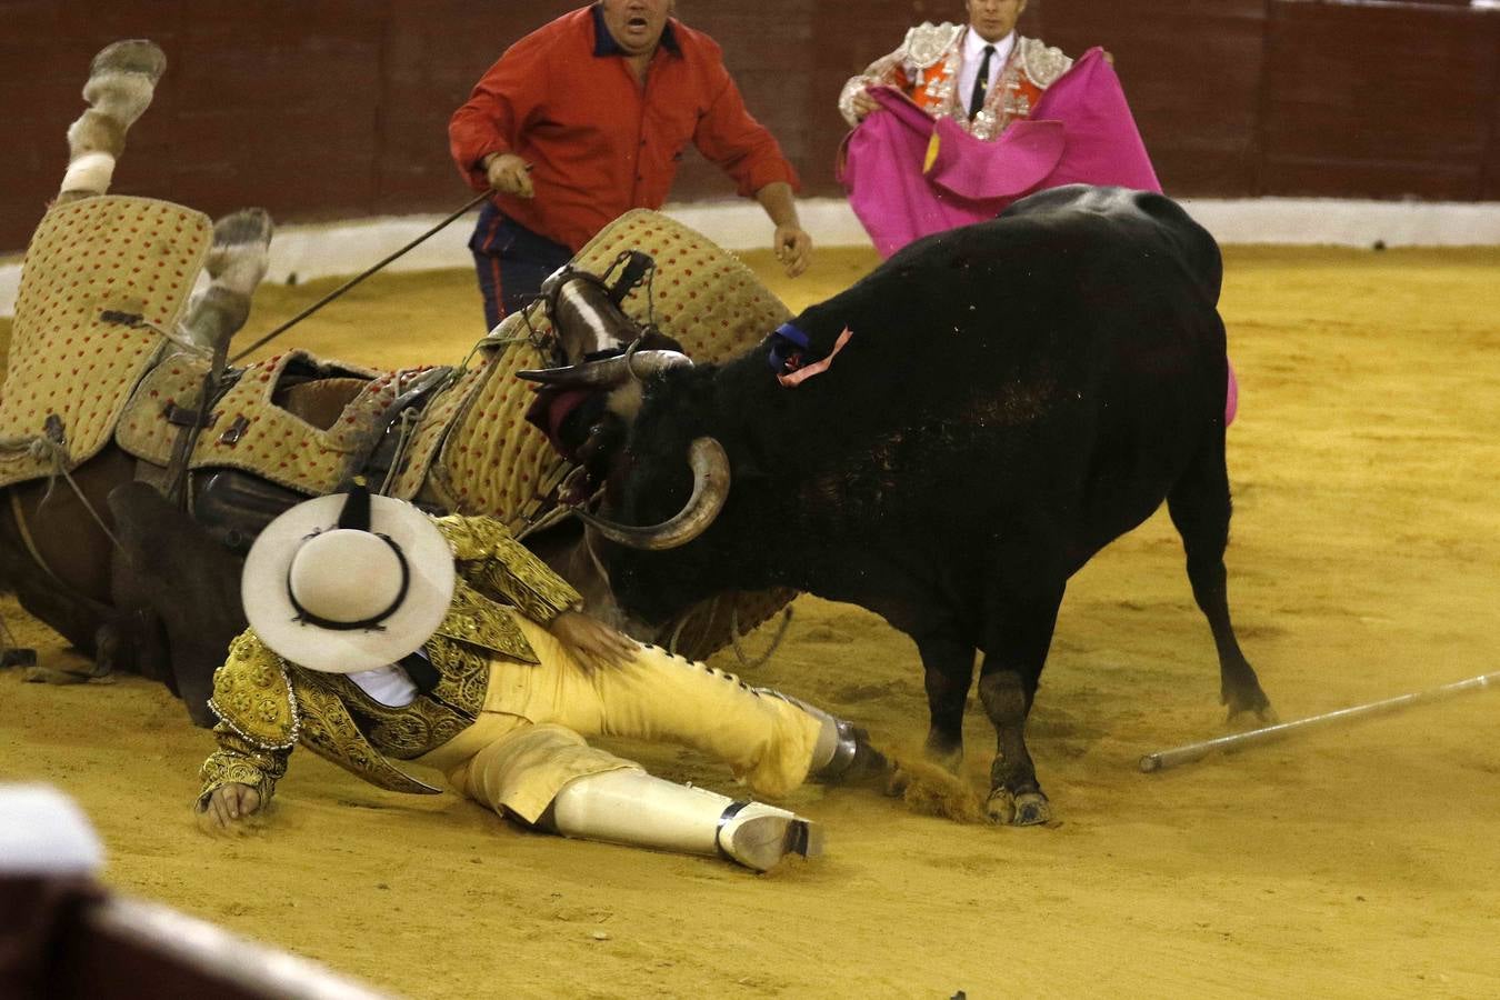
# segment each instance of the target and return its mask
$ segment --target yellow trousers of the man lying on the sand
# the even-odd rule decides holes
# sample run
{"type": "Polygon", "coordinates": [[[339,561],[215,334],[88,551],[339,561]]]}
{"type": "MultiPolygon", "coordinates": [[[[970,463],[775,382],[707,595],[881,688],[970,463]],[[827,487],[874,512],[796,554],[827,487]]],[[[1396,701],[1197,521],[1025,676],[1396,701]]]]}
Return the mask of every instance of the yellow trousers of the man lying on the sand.
{"type": "Polygon", "coordinates": [[[480,718],[417,760],[471,799],[534,823],[568,781],[639,768],[590,747],[588,736],[700,750],[764,796],[807,778],[822,723],[795,705],[654,646],[586,672],[549,631],[514,618],[542,663],[494,658],[480,718]]]}

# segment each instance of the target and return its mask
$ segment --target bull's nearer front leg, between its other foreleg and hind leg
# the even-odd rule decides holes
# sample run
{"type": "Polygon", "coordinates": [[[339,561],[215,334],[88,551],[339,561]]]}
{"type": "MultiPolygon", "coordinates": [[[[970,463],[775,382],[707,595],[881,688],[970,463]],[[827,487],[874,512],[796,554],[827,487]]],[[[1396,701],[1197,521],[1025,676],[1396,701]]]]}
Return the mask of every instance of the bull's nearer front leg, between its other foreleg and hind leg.
{"type": "Polygon", "coordinates": [[[1059,585],[1047,594],[1012,597],[990,613],[980,700],[994,724],[986,811],[996,823],[1034,826],[1052,819],[1052,805],[1026,750],[1026,715],[1047,663],[1062,592],[1059,585]]]}

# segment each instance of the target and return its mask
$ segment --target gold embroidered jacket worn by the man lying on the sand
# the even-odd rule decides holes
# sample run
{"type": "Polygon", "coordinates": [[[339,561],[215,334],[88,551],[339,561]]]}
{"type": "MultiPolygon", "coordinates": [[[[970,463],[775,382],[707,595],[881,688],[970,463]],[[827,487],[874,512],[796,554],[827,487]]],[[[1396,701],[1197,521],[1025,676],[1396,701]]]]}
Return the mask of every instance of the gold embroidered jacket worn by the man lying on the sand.
{"type": "Polygon", "coordinates": [[[213,675],[208,705],[219,715],[219,750],[202,765],[200,805],[230,783],[255,787],[268,801],[298,742],[382,789],[438,792],[388,757],[420,757],[478,718],[492,655],[537,663],[506,607],[546,624],[580,598],[500,522],[453,516],[434,523],[453,547],[459,576],[442,625],[423,646],[438,685],[390,708],[344,675],[284,660],[246,630],[213,675]]]}

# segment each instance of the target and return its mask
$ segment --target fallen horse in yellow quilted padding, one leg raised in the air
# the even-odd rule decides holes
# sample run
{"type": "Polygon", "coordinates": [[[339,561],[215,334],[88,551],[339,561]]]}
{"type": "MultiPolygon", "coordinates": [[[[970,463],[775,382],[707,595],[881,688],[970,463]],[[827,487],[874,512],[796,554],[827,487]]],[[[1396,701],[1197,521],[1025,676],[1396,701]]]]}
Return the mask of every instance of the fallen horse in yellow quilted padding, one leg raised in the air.
{"type": "MultiPolygon", "coordinates": [[[[507,318],[453,364],[382,372],[288,349],[228,367],[266,273],[268,216],[212,225],[182,205],[106,193],[164,70],[144,40],[94,58],[68,175],[27,252],[0,388],[0,577],[94,658],[90,675],[160,679],[210,724],[212,673],[244,624],[238,558],[278,513],[363,475],[429,510],[524,531],[556,507],[573,466],[524,420],[531,393],[513,378],[548,363],[540,312],[507,318]],[[200,270],[210,280],[192,294],[200,270]],[[147,487],[114,495],[132,481],[180,499],[192,520],[168,520],[147,487]]],[[[618,220],[579,264],[606,274],[627,249],[670,261],[658,270],[681,291],[616,282],[609,292],[694,357],[724,357],[786,316],[748,268],[656,213],[618,220]]],[[[720,601],[670,634],[704,657],[789,598],[744,595],[738,615],[720,601]]]]}

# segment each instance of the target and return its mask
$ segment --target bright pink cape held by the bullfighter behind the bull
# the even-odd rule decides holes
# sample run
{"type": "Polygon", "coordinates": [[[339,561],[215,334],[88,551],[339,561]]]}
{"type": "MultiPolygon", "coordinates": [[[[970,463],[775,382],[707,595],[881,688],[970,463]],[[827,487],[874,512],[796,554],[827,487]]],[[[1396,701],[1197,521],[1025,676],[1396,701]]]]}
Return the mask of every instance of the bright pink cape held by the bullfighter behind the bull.
{"type": "MultiPolygon", "coordinates": [[[[1119,76],[1100,48],[1059,76],[1029,118],[993,141],[974,138],[952,118],[934,121],[891,87],[870,93],[886,114],[867,115],[844,138],[838,180],[882,258],[918,237],[993,219],[1047,187],[1114,184],[1161,193],[1119,76]]],[[[1234,420],[1238,400],[1230,367],[1224,426],[1234,420]]]]}

